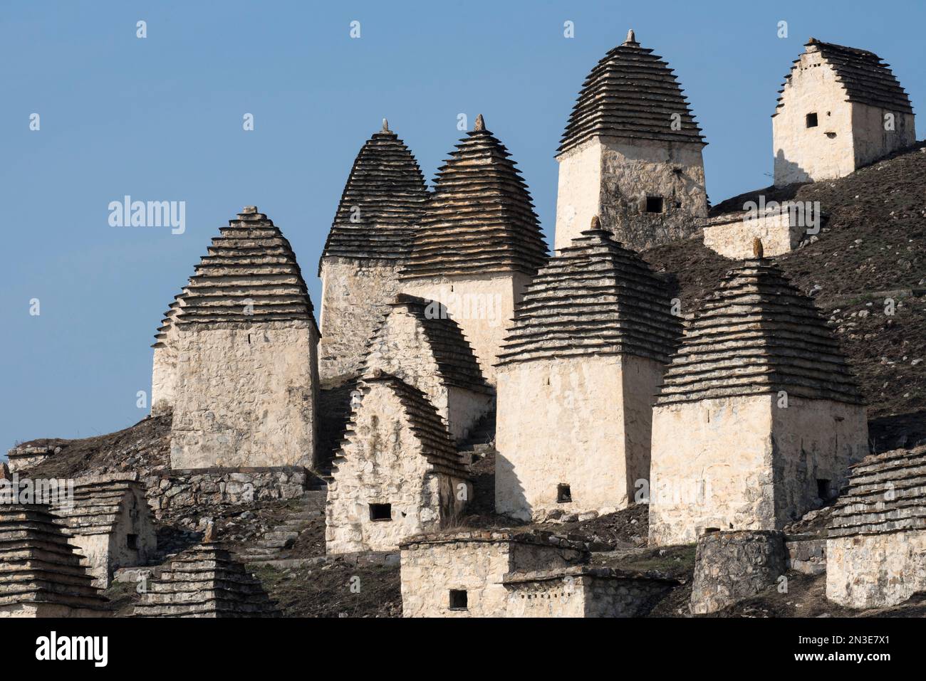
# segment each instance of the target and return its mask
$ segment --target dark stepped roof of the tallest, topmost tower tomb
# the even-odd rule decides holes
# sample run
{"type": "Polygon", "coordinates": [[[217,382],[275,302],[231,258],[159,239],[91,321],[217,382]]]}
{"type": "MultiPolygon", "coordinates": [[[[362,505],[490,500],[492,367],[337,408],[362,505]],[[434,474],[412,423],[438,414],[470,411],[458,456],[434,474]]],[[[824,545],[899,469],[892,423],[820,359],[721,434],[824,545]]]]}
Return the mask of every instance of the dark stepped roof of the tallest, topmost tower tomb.
{"type": "Polygon", "coordinates": [[[558,153],[598,136],[707,143],[675,73],[633,31],[582,83],[558,153]]]}

